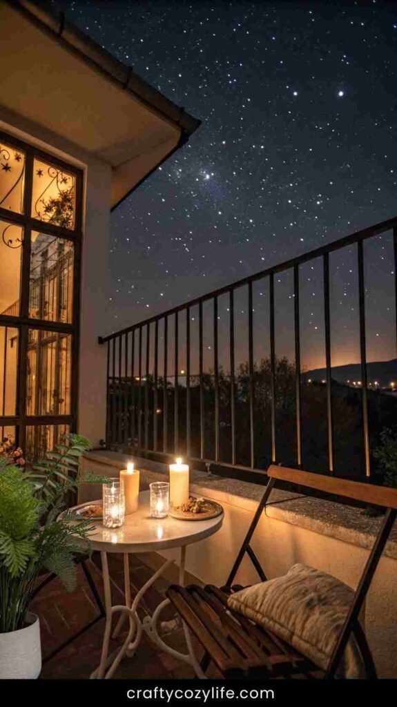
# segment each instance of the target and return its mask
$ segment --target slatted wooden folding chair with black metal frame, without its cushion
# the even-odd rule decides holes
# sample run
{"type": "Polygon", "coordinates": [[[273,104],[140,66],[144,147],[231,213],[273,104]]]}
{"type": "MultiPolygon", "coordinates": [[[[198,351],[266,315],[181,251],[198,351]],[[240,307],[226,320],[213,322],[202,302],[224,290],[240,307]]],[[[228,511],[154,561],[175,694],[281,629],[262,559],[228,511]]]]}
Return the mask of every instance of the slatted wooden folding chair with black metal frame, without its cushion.
{"type": "Polygon", "coordinates": [[[204,657],[201,662],[203,671],[206,671],[212,660],[225,678],[259,676],[265,678],[333,678],[348,640],[353,635],[362,655],[367,677],[369,679],[376,678],[374,660],[360,624],[359,615],[396,518],[397,489],[336,479],[285,467],[271,466],[267,473],[268,485],[256,509],[254,519],[239,550],[232,571],[227,578],[226,585],[220,589],[213,585],[207,585],[204,588],[198,585],[189,585],[186,588],[170,585],[167,590],[167,597],[204,648],[204,657]],[[227,606],[228,595],[242,589],[241,586],[232,585],[232,583],[246,552],[261,580],[266,580],[266,575],[250,542],[261,513],[278,480],[289,481],[291,484],[332,494],[331,500],[336,500],[335,497],[349,498],[387,509],[325,672],[304,655],[298,653],[291,645],[281,641],[271,631],[263,629],[227,606]]]}

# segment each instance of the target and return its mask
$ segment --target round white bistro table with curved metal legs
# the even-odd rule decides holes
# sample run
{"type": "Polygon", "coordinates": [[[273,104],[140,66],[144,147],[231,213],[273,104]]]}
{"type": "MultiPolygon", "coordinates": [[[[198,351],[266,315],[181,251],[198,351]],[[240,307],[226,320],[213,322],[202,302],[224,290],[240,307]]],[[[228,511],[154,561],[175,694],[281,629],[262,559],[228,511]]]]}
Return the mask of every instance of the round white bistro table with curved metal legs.
{"type": "MultiPolygon", "coordinates": [[[[90,501],[83,503],[81,506],[75,506],[70,510],[76,510],[83,506],[100,504],[102,501],[90,501]]],[[[155,608],[151,616],[147,616],[141,621],[138,617],[138,604],[148,588],[153,585],[155,580],[162,575],[172,563],[174,559],[166,560],[157,571],[148,579],[148,581],[138,590],[134,600],[131,602],[131,585],[129,576],[129,554],[139,554],[140,552],[157,552],[170,548],[180,549],[179,561],[179,584],[184,585],[184,571],[186,559],[186,547],[210,537],[217,532],[223,523],[223,513],[216,518],[210,520],[177,520],[170,515],[167,518],[150,518],[149,506],[149,491],[141,491],[139,494],[139,506],[136,513],[126,515],[125,522],[119,528],[106,528],[102,525],[102,521],[93,520],[92,525],[95,530],[90,533],[90,543],[94,550],[100,551],[102,561],[103,585],[105,591],[105,608],[106,608],[106,624],[105,633],[102,643],[102,654],[100,665],[91,674],[91,678],[110,678],[114,674],[119,663],[124,658],[124,655],[131,658],[141,641],[143,631],[156,643],[162,650],[165,650],[174,658],[179,658],[186,663],[189,663],[196,672],[198,677],[205,677],[201,667],[196,660],[194,651],[191,645],[191,637],[186,624],[182,622],[184,628],[184,636],[188,653],[179,653],[178,650],[170,648],[158,634],[157,624],[160,613],[167,604],[170,604],[169,599],[165,599],[155,608]],[[124,597],[125,604],[112,605],[112,595],[110,590],[109,566],[107,563],[107,553],[117,552],[124,556],[124,597]],[[112,633],[112,617],[114,614],[120,614],[119,621],[112,634],[116,638],[124,619],[129,619],[129,632],[121,648],[117,648],[114,653],[109,655],[109,641],[112,633]]]]}

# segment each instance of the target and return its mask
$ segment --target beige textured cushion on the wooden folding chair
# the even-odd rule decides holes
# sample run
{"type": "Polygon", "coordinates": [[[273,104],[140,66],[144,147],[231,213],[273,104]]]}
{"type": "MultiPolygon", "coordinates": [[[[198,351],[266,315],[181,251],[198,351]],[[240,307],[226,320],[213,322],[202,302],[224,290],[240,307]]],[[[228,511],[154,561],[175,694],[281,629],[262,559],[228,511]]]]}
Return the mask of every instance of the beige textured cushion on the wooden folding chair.
{"type": "MultiPolygon", "coordinates": [[[[228,604],[326,670],[353,595],[335,577],[297,564],[282,577],[235,592],[228,604]]],[[[365,677],[353,637],[340,661],[338,677],[365,677]]]]}

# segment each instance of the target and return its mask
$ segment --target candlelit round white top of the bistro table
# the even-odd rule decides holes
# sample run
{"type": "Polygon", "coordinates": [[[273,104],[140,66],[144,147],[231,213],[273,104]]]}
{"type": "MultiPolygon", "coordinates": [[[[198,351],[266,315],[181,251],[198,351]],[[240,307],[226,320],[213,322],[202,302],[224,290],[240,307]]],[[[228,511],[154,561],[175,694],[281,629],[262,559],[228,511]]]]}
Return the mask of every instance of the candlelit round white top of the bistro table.
{"type": "MultiPolygon", "coordinates": [[[[170,547],[182,547],[213,535],[223,523],[223,513],[209,520],[178,520],[150,518],[150,492],[141,491],[136,513],[126,515],[124,525],[119,528],[105,528],[102,520],[90,520],[95,530],[90,533],[90,542],[95,550],[102,552],[149,552],[170,547]]],[[[102,501],[90,501],[74,506],[91,506],[102,501]]]]}

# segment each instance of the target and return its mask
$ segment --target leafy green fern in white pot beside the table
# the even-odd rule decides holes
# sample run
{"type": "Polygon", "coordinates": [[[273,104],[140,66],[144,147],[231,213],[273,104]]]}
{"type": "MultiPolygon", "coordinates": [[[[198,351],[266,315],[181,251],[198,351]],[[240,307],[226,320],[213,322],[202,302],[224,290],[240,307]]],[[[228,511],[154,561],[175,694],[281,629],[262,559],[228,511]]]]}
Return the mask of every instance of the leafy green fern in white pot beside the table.
{"type": "Polygon", "coordinates": [[[88,440],[68,436],[44,460],[25,472],[0,459],[0,679],[37,678],[41,670],[40,625],[29,612],[37,578],[46,571],[69,591],[76,585],[74,557],[89,549],[89,520],[70,523],[71,493],[102,477],[79,474],[88,440]]]}

